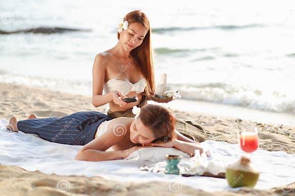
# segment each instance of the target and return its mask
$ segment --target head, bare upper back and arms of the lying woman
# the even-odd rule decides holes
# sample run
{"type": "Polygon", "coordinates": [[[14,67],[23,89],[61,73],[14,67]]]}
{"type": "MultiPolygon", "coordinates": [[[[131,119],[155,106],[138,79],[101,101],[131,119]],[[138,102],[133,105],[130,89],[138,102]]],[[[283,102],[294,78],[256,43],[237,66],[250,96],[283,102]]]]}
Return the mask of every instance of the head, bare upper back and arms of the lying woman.
{"type": "Polygon", "coordinates": [[[194,156],[195,150],[202,153],[200,143],[176,139],[179,137],[175,131],[175,124],[175,117],[169,109],[159,105],[144,106],[138,117],[119,117],[110,121],[106,132],[83,146],[75,159],[123,159],[140,148],[151,146],[174,147],[190,156],[194,156]],[[107,151],[109,148],[113,151],[107,151]]]}

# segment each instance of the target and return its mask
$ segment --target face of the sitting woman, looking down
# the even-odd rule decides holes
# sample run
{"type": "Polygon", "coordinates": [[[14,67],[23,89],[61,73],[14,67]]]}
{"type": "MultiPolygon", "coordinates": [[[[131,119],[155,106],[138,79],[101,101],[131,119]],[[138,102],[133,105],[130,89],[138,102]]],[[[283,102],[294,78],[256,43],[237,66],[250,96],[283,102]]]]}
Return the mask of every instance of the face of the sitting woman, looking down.
{"type": "Polygon", "coordinates": [[[146,33],[147,30],[141,23],[131,23],[127,30],[120,33],[120,42],[126,51],[132,51],[142,43],[146,33]]]}

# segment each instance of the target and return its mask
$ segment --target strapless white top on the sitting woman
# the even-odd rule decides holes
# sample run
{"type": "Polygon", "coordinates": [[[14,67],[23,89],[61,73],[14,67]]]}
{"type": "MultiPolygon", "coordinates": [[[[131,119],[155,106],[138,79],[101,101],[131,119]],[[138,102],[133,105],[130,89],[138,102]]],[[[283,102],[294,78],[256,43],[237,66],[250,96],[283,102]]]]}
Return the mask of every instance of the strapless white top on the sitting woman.
{"type": "Polygon", "coordinates": [[[104,83],[104,90],[106,91],[106,93],[112,90],[118,90],[122,92],[123,95],[127,95],[132,91],[135,91],[138,94],[144,91],[145,86],[146,81],[144,78],[140,79],[134,84],[123,80],[111,79],[108,82],[104,83]]]}

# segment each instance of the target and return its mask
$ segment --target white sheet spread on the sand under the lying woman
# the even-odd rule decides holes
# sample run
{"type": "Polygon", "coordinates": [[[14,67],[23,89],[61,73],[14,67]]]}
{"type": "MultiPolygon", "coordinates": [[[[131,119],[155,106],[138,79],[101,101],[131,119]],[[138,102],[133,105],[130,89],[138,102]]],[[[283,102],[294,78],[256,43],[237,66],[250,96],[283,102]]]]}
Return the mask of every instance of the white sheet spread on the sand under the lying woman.
{"type": "MultiPolygon", "coordinates": [[[[114,160],[87,162],[74,160],[82,146],[73,146],[49,142],[37,135],[23,132],[12,133],[6,129],[8,121],[0,119],[0,163],[15,165],[29,171],[39,170],[46,174],[101,176],[117,181],[166,181],[173,187],[191,186],[205,191],[229,190],[225,179],[209,177],[182,177],[142,171],[139,166],[152,165],[151,161],[114,160]]],[[[214,151],[212,157],[216,164],[227,165],[239,159],[242,152],[237,144],[213,140],[202,142],[206,148],[214,151]]],[[[252,154],[252,163],[261,171],[255,186],[258,189],[286,185],[295,180],[295,154],[282,151],[268,152],[258,149],[252,154]]],[[[185,165],[185,159],[180,165],[185,165]]],[[[230,189],[233,190],[233,189],[230,189]]],[[[236,189],[235,189],[236,190],[236,189]]]]}

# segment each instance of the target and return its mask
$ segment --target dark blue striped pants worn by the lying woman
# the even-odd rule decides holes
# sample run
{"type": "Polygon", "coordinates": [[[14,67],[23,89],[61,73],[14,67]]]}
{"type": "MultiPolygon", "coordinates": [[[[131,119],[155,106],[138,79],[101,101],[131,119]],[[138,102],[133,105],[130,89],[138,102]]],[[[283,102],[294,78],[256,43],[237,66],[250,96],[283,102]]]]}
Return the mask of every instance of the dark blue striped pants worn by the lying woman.
{"type": "Polygon", "coordinates": [[[90,111],[76,112],[71,115],[57,118],[34,118],[19,120],[17,129],[24,133],[36,134],[47,141],[85,145],[95,137],[98,126],[112,118],[106,114],[90,111]]]}

